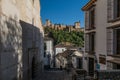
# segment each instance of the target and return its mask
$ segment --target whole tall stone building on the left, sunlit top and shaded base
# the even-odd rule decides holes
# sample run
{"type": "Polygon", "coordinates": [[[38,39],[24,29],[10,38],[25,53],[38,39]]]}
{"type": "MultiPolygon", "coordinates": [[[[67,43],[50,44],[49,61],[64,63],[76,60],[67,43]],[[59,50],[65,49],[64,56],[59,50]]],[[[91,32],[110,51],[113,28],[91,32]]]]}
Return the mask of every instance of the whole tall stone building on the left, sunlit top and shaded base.
{"type": "Polygon", "coordinates": [[[0,80],[33,80],[42,71],[39,0],[0,0],[0,80]]]}

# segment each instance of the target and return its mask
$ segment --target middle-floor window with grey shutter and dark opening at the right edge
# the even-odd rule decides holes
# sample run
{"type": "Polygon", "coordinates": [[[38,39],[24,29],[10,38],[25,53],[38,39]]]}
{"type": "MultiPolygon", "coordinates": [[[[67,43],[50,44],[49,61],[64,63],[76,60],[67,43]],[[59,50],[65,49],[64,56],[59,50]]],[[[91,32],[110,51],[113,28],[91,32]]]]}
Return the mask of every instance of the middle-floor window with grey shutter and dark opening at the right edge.
{"type": "Polygon", "coordinates": [[[120,55],[120,28],[107,30],[108,55],[120,55]]]}

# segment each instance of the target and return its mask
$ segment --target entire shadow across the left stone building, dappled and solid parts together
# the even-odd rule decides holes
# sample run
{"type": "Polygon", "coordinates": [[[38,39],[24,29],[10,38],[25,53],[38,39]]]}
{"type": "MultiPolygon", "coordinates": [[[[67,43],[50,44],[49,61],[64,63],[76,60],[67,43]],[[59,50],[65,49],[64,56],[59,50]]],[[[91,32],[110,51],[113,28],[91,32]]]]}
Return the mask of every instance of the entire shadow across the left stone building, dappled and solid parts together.
{"type": "MultiPolygon", "coordinates": [[[[42,33],[39,28],[0,15],[0,75],[3,80],[29,80],[33,65],[40,67],[42,33]],[[38,49],[29,54],[29,49],[38,49]],[[32,57],[31,57],[32,56],[32,57]],[[35,57],[35,61],[33,61],[35,57]],[[38,64],[39,63],[39,64],[38,64]],[[30,66],[31,65],[31,66],[30,66]],[[30,66],[30,67],[29,67],[30,66]]],[[[32,74],[34,75],[34,74],[32,74]]],[[[0,77],[1,80],[1,77],[0,77]]]]}

